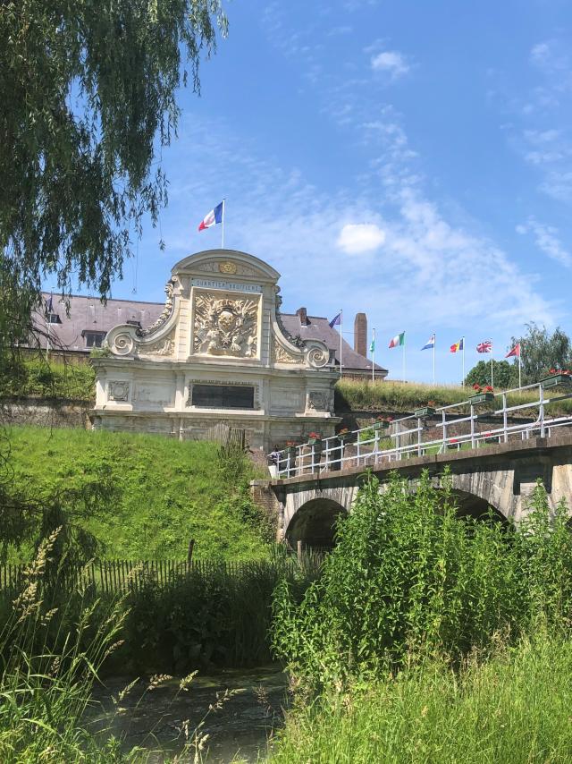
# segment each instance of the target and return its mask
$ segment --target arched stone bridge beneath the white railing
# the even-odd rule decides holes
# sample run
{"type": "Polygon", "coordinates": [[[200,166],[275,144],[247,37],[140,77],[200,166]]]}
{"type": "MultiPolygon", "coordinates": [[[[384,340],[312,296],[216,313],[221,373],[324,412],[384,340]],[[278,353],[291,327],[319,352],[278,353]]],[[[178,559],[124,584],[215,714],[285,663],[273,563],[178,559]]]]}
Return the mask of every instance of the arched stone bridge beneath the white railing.
{"type": "MultiPolygon", "coordinates": [[[[391,471],[415,482],[423,470],[438,478],[447,465],[460,514],[479,517],[492,507],[500,520],[518,522],[539,478],[552,507],[561,498],[572,507],[572,433],[379,463],[372,473],[383,490],[391,471]]],[[[351,511],[364,474],[360,466],[283,480],[255,480],[251,486],[255,500],[267,508],[273,505],[280,539],[287,539],[294,548],[299,541],[311,547],[331,547],[334,522],[339,514],[351,511]]]]}

